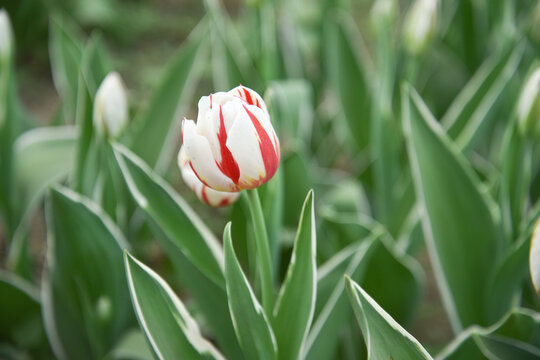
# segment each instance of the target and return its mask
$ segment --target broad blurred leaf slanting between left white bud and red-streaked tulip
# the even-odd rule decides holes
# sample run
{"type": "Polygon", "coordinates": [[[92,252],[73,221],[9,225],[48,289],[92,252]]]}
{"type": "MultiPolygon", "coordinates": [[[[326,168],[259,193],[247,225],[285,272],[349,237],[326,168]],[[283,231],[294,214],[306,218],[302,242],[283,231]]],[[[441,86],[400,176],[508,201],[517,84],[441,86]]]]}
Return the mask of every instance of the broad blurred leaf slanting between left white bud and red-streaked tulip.
{"type": "Polygon", "coordinates": [[[150,167],[159,171],[169,165],[170,149],[174,148],[171,141],[180,136],[179,124],[173,121],[175,115],[190,103],[205,64],[202,61],[207,52],[205,33],[205,24],[202,23],[173,56],[152,93],[148,107],[134,119],[126,133],[125,143],[150,167]]]}

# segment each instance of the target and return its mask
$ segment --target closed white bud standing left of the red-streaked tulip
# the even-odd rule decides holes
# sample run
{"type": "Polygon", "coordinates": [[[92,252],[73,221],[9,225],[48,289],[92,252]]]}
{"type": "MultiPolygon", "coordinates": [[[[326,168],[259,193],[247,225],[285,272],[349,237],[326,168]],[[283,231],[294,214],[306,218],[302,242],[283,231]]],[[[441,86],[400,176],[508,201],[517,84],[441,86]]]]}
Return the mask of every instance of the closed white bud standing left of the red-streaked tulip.
{"type": "Polygon", "coordinates": [[[94,127],[106,138],[117,138],[127,125],[128,104],[122,78],[117,72],[105,77],[94,101],[94,127]]]}

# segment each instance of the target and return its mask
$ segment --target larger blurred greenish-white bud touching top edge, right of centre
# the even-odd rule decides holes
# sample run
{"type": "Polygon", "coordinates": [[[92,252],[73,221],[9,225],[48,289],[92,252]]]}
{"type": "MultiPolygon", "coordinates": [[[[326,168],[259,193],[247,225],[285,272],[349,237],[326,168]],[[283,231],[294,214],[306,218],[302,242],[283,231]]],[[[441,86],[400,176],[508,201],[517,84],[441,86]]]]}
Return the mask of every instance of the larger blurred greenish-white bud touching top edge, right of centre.
{"type": "Polygon", "coordinates": [[[437,27],[438,0],[416,0],[407,12],[405,18],[405,49],[418,56],[422,54],[437,27]]]}

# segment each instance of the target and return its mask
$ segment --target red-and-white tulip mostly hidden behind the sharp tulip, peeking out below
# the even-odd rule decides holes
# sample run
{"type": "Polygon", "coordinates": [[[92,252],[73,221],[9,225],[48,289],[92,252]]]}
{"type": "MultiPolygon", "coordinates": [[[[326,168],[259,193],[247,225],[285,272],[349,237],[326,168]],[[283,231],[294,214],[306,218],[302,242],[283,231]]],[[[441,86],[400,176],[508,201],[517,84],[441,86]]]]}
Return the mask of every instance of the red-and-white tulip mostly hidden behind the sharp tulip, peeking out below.
{"type": "Polygon", "coordinates": [[[178,153],[178,166],[182,172],[184,182],[193,190],[197,197],[213,207],[231,205],[238,199],[240,193],[217,191],[204,185],[189,166],[185,148],[182,146],[178,153]]]}

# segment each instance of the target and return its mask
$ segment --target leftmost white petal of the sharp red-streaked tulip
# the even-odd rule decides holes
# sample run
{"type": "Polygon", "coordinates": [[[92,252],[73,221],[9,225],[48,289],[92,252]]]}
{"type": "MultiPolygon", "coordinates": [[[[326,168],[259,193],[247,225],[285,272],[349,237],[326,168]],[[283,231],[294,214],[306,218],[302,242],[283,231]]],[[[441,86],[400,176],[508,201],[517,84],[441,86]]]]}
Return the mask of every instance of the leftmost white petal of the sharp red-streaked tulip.
{"type": "Polygon", "coordinates": [[[184,148],[196,175],[213,189],[236,191],[237,186],[218,168],[208,140],[197,133],[193,120],[184,121],[184,148]]]}

